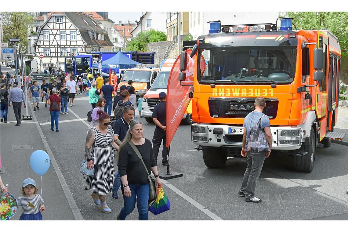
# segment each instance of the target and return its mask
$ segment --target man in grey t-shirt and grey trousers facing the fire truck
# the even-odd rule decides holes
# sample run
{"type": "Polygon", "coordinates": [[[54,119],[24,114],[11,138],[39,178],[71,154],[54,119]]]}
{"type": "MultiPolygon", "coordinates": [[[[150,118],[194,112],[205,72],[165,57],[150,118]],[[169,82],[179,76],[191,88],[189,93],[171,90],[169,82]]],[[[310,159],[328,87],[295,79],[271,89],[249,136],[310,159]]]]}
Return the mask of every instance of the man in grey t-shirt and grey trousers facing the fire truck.
{"type": "Polygon", "coordinates": [[[262,166],[263,161],[265,158],[269,157],[269,154],[271,153],[272,149],[272,134],[269,124],[268,117],[262,113],[263,108],[266,106],[265,99],[263,97],[258,97],[255,99],[255,110],[248,115],[246,115],[244,119],[244,133],[243,133],[243,148],[242,148],[242,156],[247,156],[247,167],[246,171],[244,173],[242,187],[240,187],[240,190],[238,194],[240,196],[245,197],[245,201],[249,202],[261,202],[261,199],[257,198],[255,196],[255,187],[256,187],[256,181],[258,180],[262,166]],[[270,148],[269,152],[246,152],[247,151],[247,141],[250,136],[250,130],[252,127],[256,126],[256,124],[260,122],[261,129],[264,130],[267,138],[267,142],[270,148]]]}

